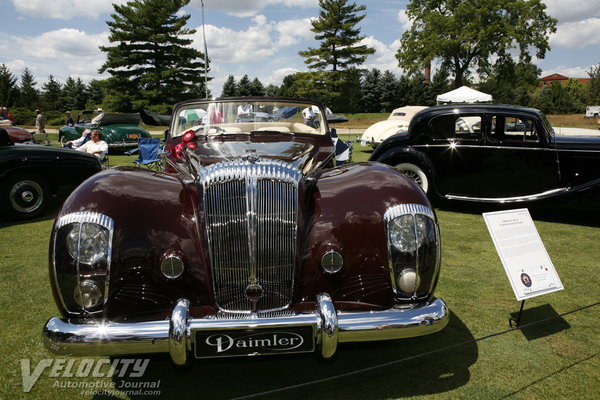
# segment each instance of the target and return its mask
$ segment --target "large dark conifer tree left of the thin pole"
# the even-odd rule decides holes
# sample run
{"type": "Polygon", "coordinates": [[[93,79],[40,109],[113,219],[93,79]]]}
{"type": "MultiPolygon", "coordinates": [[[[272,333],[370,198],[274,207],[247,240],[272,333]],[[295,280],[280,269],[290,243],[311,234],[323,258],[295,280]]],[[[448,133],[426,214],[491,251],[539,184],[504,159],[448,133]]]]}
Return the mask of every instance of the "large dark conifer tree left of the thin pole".
{"type": "Polygon", "coordinates": [[[204,97],[203,53],[186,38],[190,15],[181,9],[190,0],[132,0],[113,4],[107,21],[113,46],[101,46],[107,60],[99,69],[108,72],[110,103],[115,107],[141,108],[204,97]]]}

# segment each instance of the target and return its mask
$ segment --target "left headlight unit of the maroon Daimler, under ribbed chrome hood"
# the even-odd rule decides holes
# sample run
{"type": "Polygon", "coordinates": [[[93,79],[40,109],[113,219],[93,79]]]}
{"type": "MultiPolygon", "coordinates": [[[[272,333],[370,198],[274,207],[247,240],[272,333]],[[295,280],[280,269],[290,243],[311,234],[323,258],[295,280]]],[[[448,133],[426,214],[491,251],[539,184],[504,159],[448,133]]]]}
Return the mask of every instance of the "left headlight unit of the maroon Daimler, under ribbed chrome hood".
{"type": "Polygon", "coordinates": [[[54,279],[71,313],[102,310],[108,296],[113,220],[93,212],[61,217],[54,230],[54,279]]]}

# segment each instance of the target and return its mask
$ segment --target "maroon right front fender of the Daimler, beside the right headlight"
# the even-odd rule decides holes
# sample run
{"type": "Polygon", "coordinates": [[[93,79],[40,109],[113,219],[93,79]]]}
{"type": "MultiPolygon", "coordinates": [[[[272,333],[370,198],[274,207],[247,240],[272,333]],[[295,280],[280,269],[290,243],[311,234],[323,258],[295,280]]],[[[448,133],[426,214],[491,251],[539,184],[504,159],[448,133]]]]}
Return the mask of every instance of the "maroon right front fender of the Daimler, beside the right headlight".
{"type": "Polygon", "coordinates": [[[320,291],[340,307],[365,308],[394,304],[383,216],[399,204],[431,205],[410,179],[379,163],[358,163],[324,172],[312,196],[313,218],[304,244],[301,301],[320,291]],[[323,255],[342,254],[342,272],[323,273],[323,255]],[[348,302],[348,303],[346,303],[348,302]]]}

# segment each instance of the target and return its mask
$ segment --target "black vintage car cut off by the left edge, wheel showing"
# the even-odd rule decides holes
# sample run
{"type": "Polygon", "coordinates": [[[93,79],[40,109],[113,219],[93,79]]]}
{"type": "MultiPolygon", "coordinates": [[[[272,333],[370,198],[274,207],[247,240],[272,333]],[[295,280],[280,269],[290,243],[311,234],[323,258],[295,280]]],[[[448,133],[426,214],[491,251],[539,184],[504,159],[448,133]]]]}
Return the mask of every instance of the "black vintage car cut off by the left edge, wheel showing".
{"type": "Polygon", "coordinates": [[[8,219],[41,215],[53,195],[66,195],[101,170],[92,155],[14,143],[0,128],[0,213],[8,219]]]}

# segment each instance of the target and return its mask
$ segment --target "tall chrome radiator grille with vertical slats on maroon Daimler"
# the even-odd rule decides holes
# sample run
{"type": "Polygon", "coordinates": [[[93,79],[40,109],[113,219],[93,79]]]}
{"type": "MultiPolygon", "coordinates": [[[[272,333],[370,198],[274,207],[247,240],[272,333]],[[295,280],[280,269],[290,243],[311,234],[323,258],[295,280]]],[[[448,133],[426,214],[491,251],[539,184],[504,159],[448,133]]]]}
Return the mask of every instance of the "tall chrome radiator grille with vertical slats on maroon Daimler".
{"type": "Polygon", "coordinates": [[[274,311],[290,304],[300,177],[277,160],[236,160],[200,171],[210,267],[222,311],[274,311]]]}

